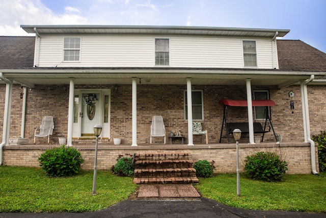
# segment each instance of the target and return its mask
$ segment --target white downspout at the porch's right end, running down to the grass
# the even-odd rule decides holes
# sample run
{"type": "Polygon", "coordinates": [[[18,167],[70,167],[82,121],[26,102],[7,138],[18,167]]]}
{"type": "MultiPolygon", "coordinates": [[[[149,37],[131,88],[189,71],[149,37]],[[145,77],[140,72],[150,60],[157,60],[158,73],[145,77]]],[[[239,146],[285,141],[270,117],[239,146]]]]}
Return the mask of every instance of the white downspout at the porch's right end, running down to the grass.
{"type": "Polygon", "coordinates": [[[302,114],[304,120],[304,136],[305,142],[310,143],[310,155],[311,155],[311,171],[314,175],[318,175],[316,171],[316,155],[315,155],[315,142],[311,139],[310,135],[310,120],[308,109],[308,92],[307,85],[314,80],[314,75],[311,75],[308,80],[301,82],[301,99],[302,99],[302,114]]]}

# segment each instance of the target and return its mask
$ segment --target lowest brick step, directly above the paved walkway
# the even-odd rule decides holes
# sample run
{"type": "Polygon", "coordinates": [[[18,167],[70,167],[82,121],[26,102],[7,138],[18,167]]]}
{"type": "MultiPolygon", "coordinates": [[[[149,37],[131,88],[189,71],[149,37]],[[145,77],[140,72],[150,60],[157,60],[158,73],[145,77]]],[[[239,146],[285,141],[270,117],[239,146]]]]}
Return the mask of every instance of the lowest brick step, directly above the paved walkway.
{"type": "Polygon", "coordinates": [[[185,184],[185,183],[198,183],[197,177],[165,177],[165,178],[137,178],[133,179],[135,184],[185,184]]]}

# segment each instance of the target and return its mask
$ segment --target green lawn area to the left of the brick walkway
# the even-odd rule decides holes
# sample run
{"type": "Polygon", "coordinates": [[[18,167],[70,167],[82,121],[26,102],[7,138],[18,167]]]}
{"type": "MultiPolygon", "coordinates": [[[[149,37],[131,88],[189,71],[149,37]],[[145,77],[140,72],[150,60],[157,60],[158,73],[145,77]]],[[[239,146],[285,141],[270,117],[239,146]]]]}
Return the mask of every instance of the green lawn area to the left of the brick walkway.
{"type": "Polygon", "coordinates": [[[0,167],[0,212],[85,212],[107,208],[135,191],[132,178],[93,171],[68,178],[48,178],[41,168],[0,167]]]}

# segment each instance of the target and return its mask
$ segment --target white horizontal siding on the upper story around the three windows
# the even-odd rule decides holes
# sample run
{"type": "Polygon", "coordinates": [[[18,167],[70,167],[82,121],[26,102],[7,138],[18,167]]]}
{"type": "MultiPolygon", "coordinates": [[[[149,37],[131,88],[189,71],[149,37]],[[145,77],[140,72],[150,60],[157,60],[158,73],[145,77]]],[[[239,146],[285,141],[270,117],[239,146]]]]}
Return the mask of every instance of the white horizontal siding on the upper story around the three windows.
{"type": "MultiPolygon", "coordinates": [[[[63,38],[42,36],[39,67],[152,67],[154,38],[170,39],[172,67],[243,67],[243,38],[212,36],[83,35],[79,62],[63,61],[63,38]]],[[[256,40],[258,68],[273,68],[271,39],[256,40]]]]}

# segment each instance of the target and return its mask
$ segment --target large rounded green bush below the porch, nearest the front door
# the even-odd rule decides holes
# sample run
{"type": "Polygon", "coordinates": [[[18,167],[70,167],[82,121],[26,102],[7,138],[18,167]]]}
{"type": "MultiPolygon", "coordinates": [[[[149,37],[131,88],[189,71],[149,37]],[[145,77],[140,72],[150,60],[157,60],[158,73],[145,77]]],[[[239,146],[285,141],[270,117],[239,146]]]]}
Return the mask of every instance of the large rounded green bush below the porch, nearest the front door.
{"type": "Polygon", "coordinates": [[[62,146],[46,150],[39,162],[48,176],[67,177],[77,175],[84,160],[75,148],[62,146]]]}

